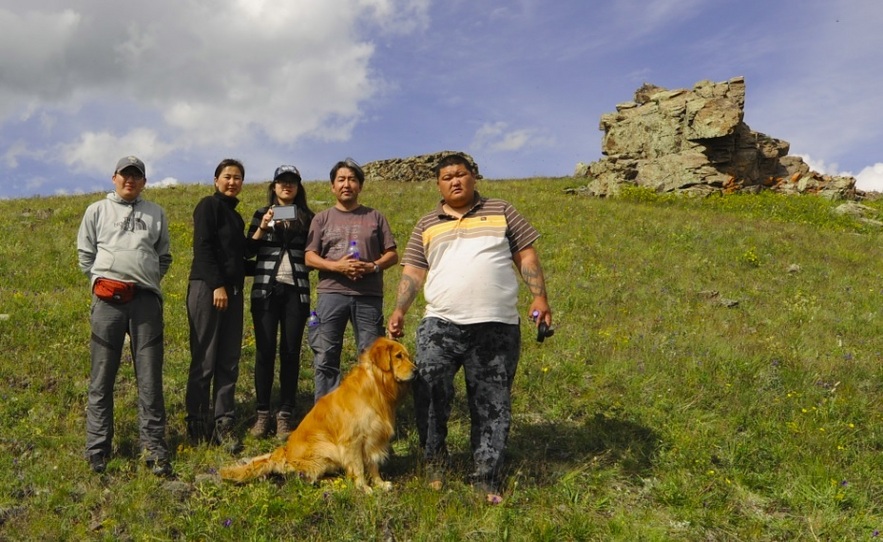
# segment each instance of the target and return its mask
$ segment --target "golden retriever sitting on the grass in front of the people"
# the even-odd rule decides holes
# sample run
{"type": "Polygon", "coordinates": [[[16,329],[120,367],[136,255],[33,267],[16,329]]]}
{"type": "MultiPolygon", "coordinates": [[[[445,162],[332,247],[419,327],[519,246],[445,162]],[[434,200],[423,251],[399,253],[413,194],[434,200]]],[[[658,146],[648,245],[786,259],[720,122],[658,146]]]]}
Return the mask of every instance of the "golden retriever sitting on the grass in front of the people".
{"type": "Polygon", "coordinates": [[[371,492],[392,484],[380,477],[389,454],[395,412],[416,367],[404,346],[386,338],[374,341],[340,386],[320,398],[291,432],[284,446],[224,467],[221,478],[245,482],[270,473],[299,473],[310,482],[343,469],[359,487],[371,492]]]}

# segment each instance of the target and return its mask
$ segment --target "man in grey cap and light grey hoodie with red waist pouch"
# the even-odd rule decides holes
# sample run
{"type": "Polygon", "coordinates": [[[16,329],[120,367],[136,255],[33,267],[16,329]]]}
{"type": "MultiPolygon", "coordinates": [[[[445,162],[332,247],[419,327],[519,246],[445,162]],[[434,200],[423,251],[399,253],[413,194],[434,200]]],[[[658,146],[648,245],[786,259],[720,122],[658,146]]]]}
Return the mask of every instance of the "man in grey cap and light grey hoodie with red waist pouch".
{"type": "Polygon", "coordinates": [[[169,224],[159,205],[141,199],[144,162],[117,162],[114,191],[91,204],[77,234],[80,269],[92,286],[92,370],[86,407],[86,458],[103,473],[113,441],[113,388],[126,335],[138,385],[140,442],[148,468],[172,474],[162,388],[163,300],[169,224]]]}

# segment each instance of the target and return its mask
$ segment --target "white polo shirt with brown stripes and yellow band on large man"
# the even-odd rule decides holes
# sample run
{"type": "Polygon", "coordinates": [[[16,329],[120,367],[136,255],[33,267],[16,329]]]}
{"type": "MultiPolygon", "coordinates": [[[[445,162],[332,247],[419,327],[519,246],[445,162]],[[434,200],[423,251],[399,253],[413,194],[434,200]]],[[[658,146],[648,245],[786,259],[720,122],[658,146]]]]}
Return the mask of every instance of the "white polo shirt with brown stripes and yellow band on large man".
{"type": "Polygon", "coordinates": [[[540,234],[506,201],[482,198],[462,218],[443,202],[411,233],[402,265],[427,269],[425,316],[455,324],[517,324],[518,274],[512,255],[540,234]]]}

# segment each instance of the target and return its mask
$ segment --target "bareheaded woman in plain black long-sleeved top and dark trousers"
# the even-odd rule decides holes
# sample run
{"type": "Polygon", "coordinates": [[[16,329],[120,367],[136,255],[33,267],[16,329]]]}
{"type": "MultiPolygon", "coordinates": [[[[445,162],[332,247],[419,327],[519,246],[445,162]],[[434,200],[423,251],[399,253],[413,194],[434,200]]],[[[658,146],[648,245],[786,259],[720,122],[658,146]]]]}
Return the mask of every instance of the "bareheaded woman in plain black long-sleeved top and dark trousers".
{"type": "Polygon", "coordinates": [[[193,211],[193,264],[187,286],[187,434],[194,443],[211,438],[231,452],[239,448],[233,432],[234,394],[248,247],[236,196],[244,180],[245,167],[237,160],[225,159],[215,169],[215,193],[201,199],[193,211]]]}

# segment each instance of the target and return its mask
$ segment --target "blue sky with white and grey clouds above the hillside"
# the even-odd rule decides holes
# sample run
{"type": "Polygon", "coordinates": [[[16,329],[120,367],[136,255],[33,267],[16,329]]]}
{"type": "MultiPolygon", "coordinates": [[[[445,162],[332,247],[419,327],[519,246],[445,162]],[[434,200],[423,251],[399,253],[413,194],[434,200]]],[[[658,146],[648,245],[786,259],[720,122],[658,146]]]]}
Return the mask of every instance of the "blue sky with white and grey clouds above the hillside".
{"type": "Polygon", "coordinates": [[[0,198],[246,182],[443,150],[489,179],[601,158],[643,83],[746,83],[745,122],[883,192],[880,0],[0,0],[0,198]]]}

